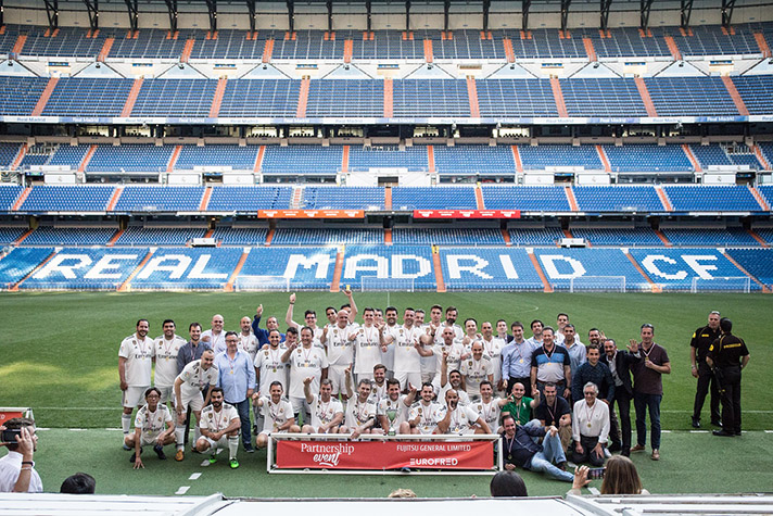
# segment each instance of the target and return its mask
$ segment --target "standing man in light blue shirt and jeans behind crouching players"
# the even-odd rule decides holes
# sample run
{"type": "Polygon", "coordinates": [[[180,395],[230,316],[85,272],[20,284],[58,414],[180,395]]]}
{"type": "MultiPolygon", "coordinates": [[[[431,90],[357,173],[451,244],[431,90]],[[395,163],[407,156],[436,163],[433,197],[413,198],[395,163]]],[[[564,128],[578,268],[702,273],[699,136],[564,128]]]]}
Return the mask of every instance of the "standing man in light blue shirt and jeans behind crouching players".
{"type": "Polygon", "coordinates": [[[215,357],[219,372],[217,387],[223,389],[226,403],[233,405],[241,419],[244,451],[253,453],[250,435],[250,400],[255,390],[255,368],[250,354],[239,350],[239,336],[235,331],[226,332],[226,351],[215,357]]]}

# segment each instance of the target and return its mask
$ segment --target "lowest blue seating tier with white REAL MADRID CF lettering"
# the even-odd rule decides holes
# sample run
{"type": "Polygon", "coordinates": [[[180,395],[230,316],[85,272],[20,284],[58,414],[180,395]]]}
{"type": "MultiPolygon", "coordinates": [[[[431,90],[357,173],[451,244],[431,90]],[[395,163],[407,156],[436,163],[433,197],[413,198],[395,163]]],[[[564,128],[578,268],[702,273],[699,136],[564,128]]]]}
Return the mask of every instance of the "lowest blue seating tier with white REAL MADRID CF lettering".
{"type": "Polygon", "coordinates": [[[629,255],[617,248],[441,246],[436,261],[432,252],[428,244],[17,248],[0,260],[0,284],[12,289],[328,290],[338,276],[341,287],[355,290],[434,290],[442,280],[449,290],[698,291],[759,290],[771,279],[768,249],[725,251],[752,277],[707,248],[631,249],[629,255]]]}

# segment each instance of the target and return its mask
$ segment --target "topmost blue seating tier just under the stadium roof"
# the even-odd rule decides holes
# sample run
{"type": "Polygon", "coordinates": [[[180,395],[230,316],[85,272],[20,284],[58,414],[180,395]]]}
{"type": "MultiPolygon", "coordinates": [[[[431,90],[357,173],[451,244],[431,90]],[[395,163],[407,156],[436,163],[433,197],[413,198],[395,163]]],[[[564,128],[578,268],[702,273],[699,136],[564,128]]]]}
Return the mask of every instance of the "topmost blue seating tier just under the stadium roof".
{"type": "MultiPolygon", "coordinates": [[[[286,37],[284,30],[258,30],[254,38],[245,30],[219,29],[212,38],[204,29],[180,29],[172,38],[165,29],[140,29],[127,38],[125,28],[100,27],[97,36],[87,28],[62,27],[55,37],[49,37],[48,27],[34,25],[8,25],[0,36],[0,51],[8,53],[20,35],[27,40],[21,55],[25,56],[80,56],[97,58],[107,38],[114,39],[106,58],[178,59],[190,39],[191,59],[261,59],[267,41],[273,41],[273,59],[277,60],[342,60],[346,52],[345,41],[352,40],[352,59],[413,59],[423,60],[423,41],[432,41],[432,51],[438,59],[505,59],[503,42],[509,40],[512,54],[518,59],[587,58],[583,39],[593,41],[600,58],[608,56],[670,56],[667,37],[673,38],[675,47],[685,56],[694,55],[743,55],[758,54],[760,48],[755,34],[761,34],[773,46],[770,23],[737,24],[733,33],[723,32],[719,25],[690,28],[682,34],[673,27],[655,27],[649,34],[636,28],[609,28],[605,36],[598,29],[572,29],[571,37],[563,37],[558,29],[534,28],[528,37],[510,29],[491,30],[481,38],[480,30],[454,30],[445,38],[441,30],[376,30],[364,37],[362,30],[335,30],[328,37],[322,30],[296,30],[286,37]],[[404,36],[405,35],[405,36],[404,36]],[[408,37],[409,36],[409,37],[408,37]]],[[[365,33],[367,35],[367,33],[365,33]]]]}

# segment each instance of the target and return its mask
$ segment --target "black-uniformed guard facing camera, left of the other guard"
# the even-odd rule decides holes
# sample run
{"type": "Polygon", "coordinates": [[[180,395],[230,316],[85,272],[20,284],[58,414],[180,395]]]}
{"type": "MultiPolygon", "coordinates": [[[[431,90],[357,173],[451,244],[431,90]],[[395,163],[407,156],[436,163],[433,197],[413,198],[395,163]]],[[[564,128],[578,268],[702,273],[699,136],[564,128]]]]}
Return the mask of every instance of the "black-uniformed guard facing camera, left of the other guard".
{"type": "Polygon", "coordinates": [[[700,412],[704,401],[711,386],[711,424],[722,426],[720,415],[720,393],[717,390],[717,380],[711,374],[711,368],[706,363],[706,353],[711,343],[720,337],[720,313],[714,311],[709,314],[709,324],[695,330],[693,340],[689,341],[689,360],[692,373],[698,379],[698,389],[695,392],[693,405],[693,428],[700,428],[700,412]]]}

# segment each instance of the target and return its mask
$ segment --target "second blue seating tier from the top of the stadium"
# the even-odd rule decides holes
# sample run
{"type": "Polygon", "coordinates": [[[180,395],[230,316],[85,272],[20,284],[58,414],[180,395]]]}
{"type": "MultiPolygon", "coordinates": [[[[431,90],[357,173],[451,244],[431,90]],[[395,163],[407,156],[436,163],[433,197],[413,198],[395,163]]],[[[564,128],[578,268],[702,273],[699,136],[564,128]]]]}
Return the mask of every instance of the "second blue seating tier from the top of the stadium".
{"type": "Polygon", "coordinates": [[[43,116],[75,117],[118,117],[126,109],[130,117],[469,118],[473,105],[484,118],[557,117],[559,104],[567,116],[644,117],[650,99],[657,116],[739,116],[736,100],[748,103],[750,114],[773,113],[770,75],[732,77],[732,90],[722,77],[707,76],[646,77],[643,85],[621,77],[552,80],[395,78],[388,102],[378,78],[315,78],[307,89],[299,79],[233,78],[218,95],[218,80],[207,78],[145,78],[132,93],[131,78],[61,77],[49,95],[47,78],[3,77],[0,115],[30,115],[39,100],[43,116]]]}

